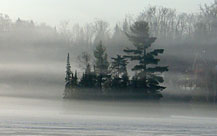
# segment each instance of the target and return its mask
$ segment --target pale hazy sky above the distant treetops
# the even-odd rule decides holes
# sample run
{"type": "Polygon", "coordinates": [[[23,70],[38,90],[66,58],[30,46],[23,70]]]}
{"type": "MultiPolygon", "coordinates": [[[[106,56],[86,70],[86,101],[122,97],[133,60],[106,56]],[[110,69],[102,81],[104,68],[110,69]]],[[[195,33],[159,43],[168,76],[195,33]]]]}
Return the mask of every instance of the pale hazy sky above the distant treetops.
{"type": "Polygon", "coordinates": [[[0,12],[12,19],[34,20],[50,25],[61,21],[72,23],[105,19],[119,22],[126,14],[137,15],[149,5],[176,8],[183,12],[197,12],[200,4],[214,0],[0,0],[0,12]]]}

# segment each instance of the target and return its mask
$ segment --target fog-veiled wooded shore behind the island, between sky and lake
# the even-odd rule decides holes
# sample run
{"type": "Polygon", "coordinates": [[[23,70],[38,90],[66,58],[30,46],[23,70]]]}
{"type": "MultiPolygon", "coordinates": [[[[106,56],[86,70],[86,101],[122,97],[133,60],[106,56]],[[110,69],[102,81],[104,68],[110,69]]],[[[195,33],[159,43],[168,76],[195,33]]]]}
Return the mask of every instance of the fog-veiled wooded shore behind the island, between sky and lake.
{"type": "Polygon", "coordinates": [[[88,52],[93,63],[93,50],[100,41],[109,58],[123,54],[123,49],[132,46],[126,33],[135,21],[141,20],[148,22],[151,36],[157,37],[153,48],[165,49],[160,56],[161,64],[169,66],[169,72],[164,74],[165,98],[215,103],[217,2],[202,5],[200,12],[195,14],[149,7],[138,16],[126,16],[115,26],[97,19],[85,25],[65,21],[58,27],[51,27],[20,18],[12,21],[9,16],[1,14],[0,88],[25,88],[28,91],[32,86],[53,86],[59,95],[63,90],[68,52],[72,69],[80,68],[80,71],[83,67],[78,56],[88,52]]]}

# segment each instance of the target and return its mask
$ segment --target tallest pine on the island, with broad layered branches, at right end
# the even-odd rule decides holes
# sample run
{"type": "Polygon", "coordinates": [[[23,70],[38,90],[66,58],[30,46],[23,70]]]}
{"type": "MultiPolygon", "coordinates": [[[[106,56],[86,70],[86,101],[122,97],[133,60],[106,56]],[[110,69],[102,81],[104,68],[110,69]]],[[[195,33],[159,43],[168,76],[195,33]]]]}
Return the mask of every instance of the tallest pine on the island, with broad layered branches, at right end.
{"type": "Polygon", "coordinates": [[[160,59],[156,58],[164,52],[163,49],[150,50],[149,48],[155,42],[156,38],[149,35],[148,23],[137,21],[130,27],[131,33],[126,33],[129,40],[133,43],[134,49],[125,49],[126,58],[136,61],[137,65],[133,71],[137,75],[133,78],[133,86],[143,89],[146,93],[157,93],[165,89],[160,86],[163,83],[161,73],[168,71],[168,67],[158,66],[160,59]]]}

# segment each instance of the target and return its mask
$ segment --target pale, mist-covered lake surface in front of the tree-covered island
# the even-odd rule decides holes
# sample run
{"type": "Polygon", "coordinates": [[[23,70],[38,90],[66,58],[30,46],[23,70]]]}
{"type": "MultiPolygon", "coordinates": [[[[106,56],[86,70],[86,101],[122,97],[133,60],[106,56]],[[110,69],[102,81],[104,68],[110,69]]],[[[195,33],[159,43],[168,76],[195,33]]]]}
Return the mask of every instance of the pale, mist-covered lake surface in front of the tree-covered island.
{"type": "Polygon", "coordinates": [[[216,106],[0,97],[2,136],[217,135],[216,106]]]}

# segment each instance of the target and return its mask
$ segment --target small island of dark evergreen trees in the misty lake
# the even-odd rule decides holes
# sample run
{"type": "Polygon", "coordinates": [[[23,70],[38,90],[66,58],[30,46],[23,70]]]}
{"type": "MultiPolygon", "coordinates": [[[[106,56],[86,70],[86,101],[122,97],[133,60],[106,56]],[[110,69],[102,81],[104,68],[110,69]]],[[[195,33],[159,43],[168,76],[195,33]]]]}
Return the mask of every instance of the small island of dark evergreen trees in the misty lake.
{"type": "Polygon", "coordinates": [[[132,47],[123,49],[122,55],[108,61],[106,48],[100,41],[93,51],[94,64],[90,64],[88,53],[82,53],[85,71],[79,78],[72,72],[70,56],[67,56],[64,98],[78,99],[157,99],[163,97],[161,91],[166,87],[163,72],[167,66],[159,66],[159,54],[164,49],[150,48],[156,41],[149,34],[149,26],[145,21],[137,21],[130,27],[126,36],[132,47]],[[128,65],[132,67],[129,74],[128,65]]]}

